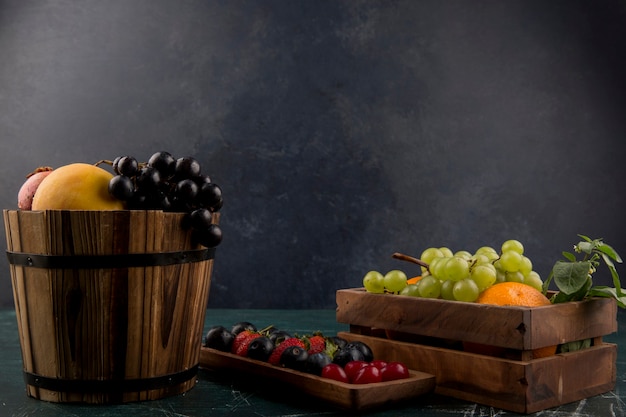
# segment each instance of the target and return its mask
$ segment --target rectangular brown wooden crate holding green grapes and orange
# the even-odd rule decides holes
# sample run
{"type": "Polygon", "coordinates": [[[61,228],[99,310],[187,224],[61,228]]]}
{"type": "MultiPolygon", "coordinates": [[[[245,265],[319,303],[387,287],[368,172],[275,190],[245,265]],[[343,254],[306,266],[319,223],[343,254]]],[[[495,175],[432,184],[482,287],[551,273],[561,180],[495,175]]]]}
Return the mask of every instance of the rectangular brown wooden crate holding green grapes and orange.
{"type": "Polygon", "coordinates": [[[350,325],[341,336],[435,375],[440,394],[532,413],[615,386],[617,347],[602,341],[617,331],[612,299],[527,308],[370,294],[362,288],[339,290],[336,297],[337,321],[350,325]],[[582,339],[592,339],[593,346],[532,359],[533,349],[582,339]],[[508,355],[468,353],[463,342],[502,347],[508,355]]]}

